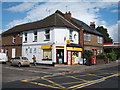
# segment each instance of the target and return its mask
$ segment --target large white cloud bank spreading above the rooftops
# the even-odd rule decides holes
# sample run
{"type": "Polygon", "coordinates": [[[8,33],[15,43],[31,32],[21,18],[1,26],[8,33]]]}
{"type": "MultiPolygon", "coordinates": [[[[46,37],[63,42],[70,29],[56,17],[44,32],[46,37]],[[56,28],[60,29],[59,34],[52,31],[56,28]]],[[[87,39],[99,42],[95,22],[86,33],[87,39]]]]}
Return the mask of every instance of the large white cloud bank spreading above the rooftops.
{"type": "MultiPolygon", "coordinates": [[[[27,3],[26,3],[27,4],[27,3]]],[[[29,3],[30,4],[30,3],[29,3]]],[[[88,2],[64,2],[64,3],[57,3],[57,2],[47,2],[45,4],[37,5],[37,6],[31,6],[27,9],[29,11],[26,12],[27,16],[20,20],[13,20],[7,25],[7,28],[11,28],[15,25],[27,23],[30,21],[36,21],[41,20],[49,15],[48,10],[50,9],[50,14],[54,13],[57,9],[62,11],[63,13],[66,12],[66,5],[67,10],[71,11],[72,17],[77,18],[79,20],[82,20],[83,22],[89,23],[91,21],[95,21],[97,25],[102,25],[108,28],[108,32],[110,36],[114,39],[114,41],[117,41],[117,37],[114,33],[118,31],[117,24],[112,26],[106,26],[107,22],[105,20],[100,20],[99,17],[101,17],[99,10],[101,8],[107,9],[109,7],[114,7],[116,4],[114,3],[88,3],[88,2]]],[[[17,7],[17,6],[16,6],[17,7]]],[[[21,10],[24,11],[24,10],[21,10]]]]}

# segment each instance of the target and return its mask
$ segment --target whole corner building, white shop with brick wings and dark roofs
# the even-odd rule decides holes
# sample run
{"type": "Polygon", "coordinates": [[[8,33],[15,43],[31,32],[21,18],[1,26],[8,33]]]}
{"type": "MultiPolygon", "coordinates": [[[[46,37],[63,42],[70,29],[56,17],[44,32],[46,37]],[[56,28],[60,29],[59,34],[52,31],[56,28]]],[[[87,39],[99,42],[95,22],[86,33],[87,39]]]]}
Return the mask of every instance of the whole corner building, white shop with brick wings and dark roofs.
{"type": "Polygon", "coordinates": [[[78,64],[82,51],[103,48],[102,35],[95,28],[72,17],[70,12],[54,14],[32,23],[15,26],[2,33],[2,52],[9,58],[27,57],[38,64],[78,64]]]}

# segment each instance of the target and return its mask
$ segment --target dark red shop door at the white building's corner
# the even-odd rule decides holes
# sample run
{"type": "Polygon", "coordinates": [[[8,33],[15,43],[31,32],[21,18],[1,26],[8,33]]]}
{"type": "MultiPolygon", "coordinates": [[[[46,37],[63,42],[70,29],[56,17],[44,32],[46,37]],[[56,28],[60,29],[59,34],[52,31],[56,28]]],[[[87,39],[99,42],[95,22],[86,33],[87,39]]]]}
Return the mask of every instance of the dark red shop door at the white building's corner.
{"type": "Polygon", "coordinates": [[[63,49],[57,49],[56,50],[56,63],[57,64],[63,64],[64,63],[64,50],[63,49]]]}

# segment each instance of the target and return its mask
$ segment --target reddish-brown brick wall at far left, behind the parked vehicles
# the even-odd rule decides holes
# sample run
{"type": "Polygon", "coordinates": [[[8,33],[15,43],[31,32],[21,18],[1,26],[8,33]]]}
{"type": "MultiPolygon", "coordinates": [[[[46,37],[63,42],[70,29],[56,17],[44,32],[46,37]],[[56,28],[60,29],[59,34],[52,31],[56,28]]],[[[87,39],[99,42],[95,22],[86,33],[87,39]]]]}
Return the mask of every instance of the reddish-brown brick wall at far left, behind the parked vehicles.
{"type": "Polygon", "coordinates": [[[12,48],[15,48],[15,56],[22,55],[22,37],[17,34],[2,36],[2,49],[4,52],[8,50],[9,60],[12,58],[12,48]],[[16,38],[15,43],[13,43],[13,36],[16,38]]]}

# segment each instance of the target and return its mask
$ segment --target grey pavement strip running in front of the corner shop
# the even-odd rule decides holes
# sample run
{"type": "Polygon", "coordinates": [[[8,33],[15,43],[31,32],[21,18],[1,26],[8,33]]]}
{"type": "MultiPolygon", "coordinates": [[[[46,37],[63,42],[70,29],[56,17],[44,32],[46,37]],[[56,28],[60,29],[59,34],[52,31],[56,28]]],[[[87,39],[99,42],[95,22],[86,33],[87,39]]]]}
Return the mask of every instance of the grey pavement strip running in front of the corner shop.
{"type": "MultiPolygon", "coordinates": [[[[56,66],[44,66],[44,65],[36,65],[32,66],[33,68],[42,68],[45,69],[46,73],[50,74],[67,74],[73,72],[84,72],[84,71],[93,71],[98,69],[103,69],[107,67],[118,66],[120,60],[111,61],[108,64],[96,64],[96,65],[56,65],[56,66]]],[[[43,70],[44,71],[44,70],[43,70]]]]}

